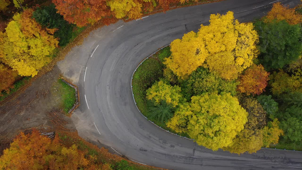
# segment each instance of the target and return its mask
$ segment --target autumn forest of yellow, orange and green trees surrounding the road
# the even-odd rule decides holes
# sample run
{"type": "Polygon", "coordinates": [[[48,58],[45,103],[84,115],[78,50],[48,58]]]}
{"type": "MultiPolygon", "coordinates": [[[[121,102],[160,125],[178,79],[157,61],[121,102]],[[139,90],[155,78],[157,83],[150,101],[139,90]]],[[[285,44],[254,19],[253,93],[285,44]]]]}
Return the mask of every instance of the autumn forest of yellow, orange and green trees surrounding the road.
{"type": "MultiPolygon", "coordinates": [[[[0,101],[92,25],[206,1],[27,2],[0,2],[0,101]]],[[[211,14],[208,25],[144,60],[131,81],[135,104],[157,126],[213,151],[302,151],[301,5],[277,2],[262,18],[237,19],[233,11],[211,14]]],[[[63,133],[50,139],[37,129],[21,132],[0,157],[0,169],[22,169],[20,160],[35,169],[152,169],[87,143],[63,133]]]]}

